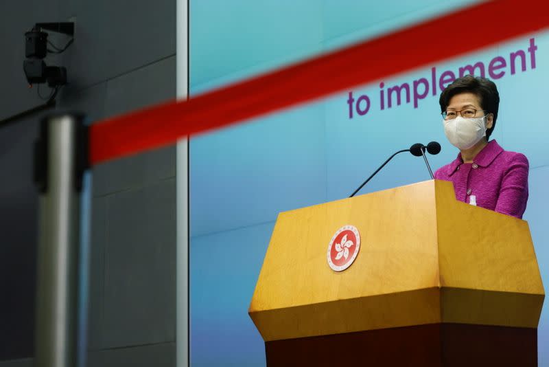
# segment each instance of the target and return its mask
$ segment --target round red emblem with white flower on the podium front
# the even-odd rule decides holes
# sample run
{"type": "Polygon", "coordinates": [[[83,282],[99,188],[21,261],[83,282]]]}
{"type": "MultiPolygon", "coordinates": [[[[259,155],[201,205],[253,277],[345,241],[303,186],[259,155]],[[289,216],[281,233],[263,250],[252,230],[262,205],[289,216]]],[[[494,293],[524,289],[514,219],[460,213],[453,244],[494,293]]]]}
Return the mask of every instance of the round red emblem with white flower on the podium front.
{"type": "Polygon", "coordinates": [[[359,250],[360,233],[354,225],[344,225],[330,240],[328,265],[332,270],[343,271],[351,266],[359,250]]]}

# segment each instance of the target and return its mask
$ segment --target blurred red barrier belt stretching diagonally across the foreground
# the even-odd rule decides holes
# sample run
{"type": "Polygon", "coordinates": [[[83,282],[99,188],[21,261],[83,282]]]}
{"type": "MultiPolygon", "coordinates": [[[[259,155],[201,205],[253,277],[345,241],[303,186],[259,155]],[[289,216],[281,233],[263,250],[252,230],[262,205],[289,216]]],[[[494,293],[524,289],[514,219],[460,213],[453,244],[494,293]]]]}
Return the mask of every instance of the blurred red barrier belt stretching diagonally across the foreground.
{"type": "Polygon", "coordinates": [[[174,144],[549,25],[546,0],[480,3],[202,94],[91,126],[91,164],[174,144]],[[545,6],[544,6],[545,5],[545,6]]]}

